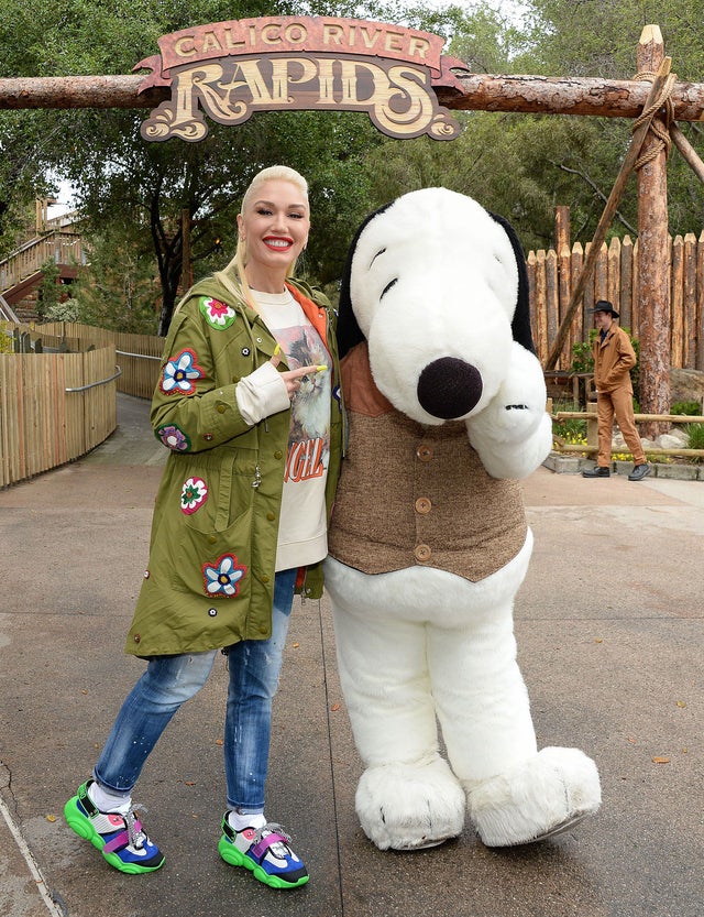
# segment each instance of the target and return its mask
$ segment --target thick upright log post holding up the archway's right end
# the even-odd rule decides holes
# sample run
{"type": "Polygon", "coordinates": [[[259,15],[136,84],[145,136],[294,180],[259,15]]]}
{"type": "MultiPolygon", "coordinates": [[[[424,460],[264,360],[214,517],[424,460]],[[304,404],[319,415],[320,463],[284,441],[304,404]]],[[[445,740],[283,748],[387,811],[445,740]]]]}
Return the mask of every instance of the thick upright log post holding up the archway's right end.
{"type": "MultiPolygon", "coordinates": [[[[662,33],[646,25],[637,51],[638,73],[654,74],[664,61],[662,33]]],[[[662,111],[662,109],[661,109],[662,111]]],[[[670,413],[670,265],[668,232],[668,146],[660,112],[642,143],[638,171],[638,306],[640,343],[640,406],[644,414],[670,413]]],[[[668,430],[648,423],[650,439],[668,430]]]]}

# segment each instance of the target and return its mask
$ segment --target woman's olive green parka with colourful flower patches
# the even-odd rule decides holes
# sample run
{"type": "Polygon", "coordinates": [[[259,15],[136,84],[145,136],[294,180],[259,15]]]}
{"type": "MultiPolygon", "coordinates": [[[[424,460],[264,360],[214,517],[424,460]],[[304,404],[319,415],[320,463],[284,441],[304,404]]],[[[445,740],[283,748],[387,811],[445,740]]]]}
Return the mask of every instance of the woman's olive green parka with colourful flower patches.
{"type": "MultiPolygon", "coordinates": [[[[343,406],[334,314],[300,281],[289,290],[332,357],[328,518],[342,451],[343,406]]],[[[152,522],[148,568],[125,652],[150,657],[222,648],[271,635],[274,567],[290,412],[250,426],[240,379],[271,359],[261,317],[215,277],[196,284],[172,320],[152,401],[154,433],[170,449],[152,522]]],[[[279,371],[288,367],[285,360],[279,371]]],[[[322,594],[321,564],[298,591],[322,594]]]]}

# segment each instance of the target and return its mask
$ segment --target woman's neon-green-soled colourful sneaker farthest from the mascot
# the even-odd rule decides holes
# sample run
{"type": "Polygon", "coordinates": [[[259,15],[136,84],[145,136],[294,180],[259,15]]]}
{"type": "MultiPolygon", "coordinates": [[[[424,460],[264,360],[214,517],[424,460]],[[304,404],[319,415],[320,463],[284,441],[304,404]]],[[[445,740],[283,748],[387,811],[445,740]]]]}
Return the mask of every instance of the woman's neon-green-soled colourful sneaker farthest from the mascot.
{"type": "Polygon", "coordinates": [[[164,863],[164,854],[146,837],[134,815],[134,806],[124,815],[101,812],[88,796],[94,780],[78,787],[76,796],[64,806],[66,825],[97,848],[111,866],[123,873],[151,873],[164,863]]]}

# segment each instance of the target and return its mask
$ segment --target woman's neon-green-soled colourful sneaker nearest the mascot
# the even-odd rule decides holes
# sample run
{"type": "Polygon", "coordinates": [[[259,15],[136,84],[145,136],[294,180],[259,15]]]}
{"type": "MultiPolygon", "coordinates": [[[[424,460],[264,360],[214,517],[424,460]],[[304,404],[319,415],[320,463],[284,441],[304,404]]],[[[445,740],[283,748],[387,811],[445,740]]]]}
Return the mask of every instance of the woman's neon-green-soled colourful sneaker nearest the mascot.
{"type": "Polygon", "coordinates": [[[297,888],[310,876],[289,844],[290,837],[280,825],[267,822],[262,828],[235,831],[226,812],[218,852],[226,863],[244,866],[272,888],[297,888]]]}

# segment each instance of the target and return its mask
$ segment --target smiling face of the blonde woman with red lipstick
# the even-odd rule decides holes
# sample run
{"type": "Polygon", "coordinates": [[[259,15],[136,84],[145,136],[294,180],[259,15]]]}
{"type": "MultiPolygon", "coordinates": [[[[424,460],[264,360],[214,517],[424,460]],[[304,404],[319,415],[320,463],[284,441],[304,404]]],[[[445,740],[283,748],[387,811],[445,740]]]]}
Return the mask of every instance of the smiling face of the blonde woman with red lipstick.
{"type": "Polygon", "coordinates": [[[246,242],[248,281],[258,276],[285,276],[308,241],[310,217],[302,192],[290,182],[272,178],[262,183],[238,215],[240,237],[246,242]]]}

